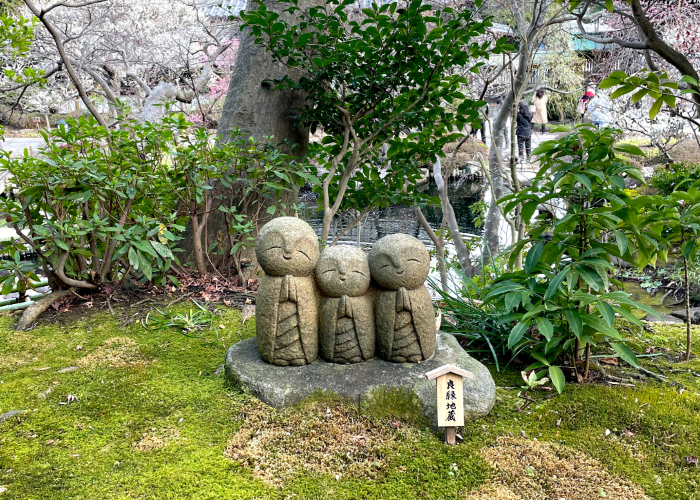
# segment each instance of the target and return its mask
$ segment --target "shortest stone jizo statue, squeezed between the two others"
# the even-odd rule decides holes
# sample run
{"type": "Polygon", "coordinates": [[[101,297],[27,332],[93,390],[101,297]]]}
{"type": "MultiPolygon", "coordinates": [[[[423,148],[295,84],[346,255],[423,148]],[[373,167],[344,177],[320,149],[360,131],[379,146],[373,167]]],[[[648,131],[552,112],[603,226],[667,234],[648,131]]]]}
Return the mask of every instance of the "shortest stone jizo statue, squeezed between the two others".
{"type": "Polygon", "coordinates": [[[316,280],[321,299],[321,357],[333,363],[360,363],[374,357],[374,303],[367,255],[351,246],[321,252],[316,280]]]}

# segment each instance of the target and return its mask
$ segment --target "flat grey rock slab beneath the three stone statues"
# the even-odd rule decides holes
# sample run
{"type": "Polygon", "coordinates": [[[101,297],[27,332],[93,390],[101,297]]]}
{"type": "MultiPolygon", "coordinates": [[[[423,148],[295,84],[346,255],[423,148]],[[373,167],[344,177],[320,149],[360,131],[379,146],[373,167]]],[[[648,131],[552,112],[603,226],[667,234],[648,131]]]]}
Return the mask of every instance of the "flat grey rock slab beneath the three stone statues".
{"type": "Polygon", "coordinates": [[[274,366],[258,354],[255,338],[232,346],[226,354],[226,375],[239,387],[275,408],[290,406],[319,390],[361,404],[386,387],[410,389],[421,400],[429,422],[437,419],[435,382],[425,373],[443,365],[454,365],[474,374],[464,379],[464,410],[467,418],[483,416],[496,400],[496,386],[488,369],[469,356],[457,340],[439,332],[435,354],[421,363],[391,363],[372,359],[364,363],[340,365],[319,360],[305,366],[274,366]]]}

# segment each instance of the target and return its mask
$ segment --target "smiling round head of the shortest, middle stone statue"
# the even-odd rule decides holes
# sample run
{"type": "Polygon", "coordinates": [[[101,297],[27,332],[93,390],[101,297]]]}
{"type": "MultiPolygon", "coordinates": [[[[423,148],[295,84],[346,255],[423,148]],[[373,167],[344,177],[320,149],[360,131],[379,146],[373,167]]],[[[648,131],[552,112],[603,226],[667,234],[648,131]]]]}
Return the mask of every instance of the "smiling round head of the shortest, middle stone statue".
{"type": "Polygon", "coordinates": [[[357,247],[337,245],[321,252],[316,281],[327,297],[359,297],[370,283],[367,254],[357,247]]]}

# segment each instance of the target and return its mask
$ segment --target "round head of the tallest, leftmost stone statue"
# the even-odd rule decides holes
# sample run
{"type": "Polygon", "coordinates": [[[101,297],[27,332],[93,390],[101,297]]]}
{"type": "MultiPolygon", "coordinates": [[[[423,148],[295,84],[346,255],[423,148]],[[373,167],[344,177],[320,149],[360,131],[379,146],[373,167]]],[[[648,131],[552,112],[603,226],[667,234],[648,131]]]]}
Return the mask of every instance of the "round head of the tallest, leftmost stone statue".
{"type": "Polygon", "coordinates": [[[316,233],[296,217],[272,219],[255,239],[255,256],[268,276],[309,276],[318,254],[316,233]]]}

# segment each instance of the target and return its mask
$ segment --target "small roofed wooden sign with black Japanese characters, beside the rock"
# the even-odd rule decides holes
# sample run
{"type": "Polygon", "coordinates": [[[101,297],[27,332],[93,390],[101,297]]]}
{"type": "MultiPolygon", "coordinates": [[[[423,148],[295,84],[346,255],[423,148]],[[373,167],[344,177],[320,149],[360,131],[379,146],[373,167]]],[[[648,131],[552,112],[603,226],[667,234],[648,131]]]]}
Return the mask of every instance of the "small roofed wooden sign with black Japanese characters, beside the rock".
{"type": "Polygon", "coordinates": [[[437,379],[438,427],[445,427],[447,444],[456,443],[457,427],[464,426],[463,378],[474,374],[452,365],[444,365],[425,374],[428,380],[437,379]]]}

